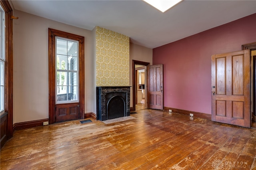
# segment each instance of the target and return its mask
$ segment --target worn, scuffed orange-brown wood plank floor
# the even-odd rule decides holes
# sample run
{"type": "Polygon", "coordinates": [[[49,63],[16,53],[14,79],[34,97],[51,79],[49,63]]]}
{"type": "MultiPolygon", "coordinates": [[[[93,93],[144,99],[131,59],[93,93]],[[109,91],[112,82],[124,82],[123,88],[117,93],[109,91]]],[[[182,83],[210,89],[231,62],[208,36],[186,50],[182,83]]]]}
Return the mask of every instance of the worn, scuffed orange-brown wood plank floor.
{"type": "Polygon", "coordinates": [[[16,130],[1,170],[256,170],[256,130],[166,111],[16,130]]]}

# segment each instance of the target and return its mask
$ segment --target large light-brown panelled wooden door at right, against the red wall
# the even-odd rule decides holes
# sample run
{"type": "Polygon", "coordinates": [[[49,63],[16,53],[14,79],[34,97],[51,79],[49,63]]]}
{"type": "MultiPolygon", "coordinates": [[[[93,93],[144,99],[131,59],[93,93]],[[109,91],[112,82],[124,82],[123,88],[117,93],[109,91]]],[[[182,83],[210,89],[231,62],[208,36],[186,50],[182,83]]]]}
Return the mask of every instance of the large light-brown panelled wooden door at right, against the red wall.
{"type": "Polygon", "coordinates": [[[212,55],[212,121],[250,127],[250,50],[212,55]]]}

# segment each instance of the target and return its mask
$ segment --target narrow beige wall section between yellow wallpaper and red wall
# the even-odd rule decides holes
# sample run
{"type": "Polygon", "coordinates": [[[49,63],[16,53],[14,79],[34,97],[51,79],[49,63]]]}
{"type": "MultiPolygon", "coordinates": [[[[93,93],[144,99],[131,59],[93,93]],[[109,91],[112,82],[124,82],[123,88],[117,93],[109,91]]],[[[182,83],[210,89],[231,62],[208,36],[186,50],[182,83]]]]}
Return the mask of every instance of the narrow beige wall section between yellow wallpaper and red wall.
{"type": "MultiPolygon", "coordinates": [[[[152,65],[153,50],[141,45],[130,43],[130,86],[132,86],[132,60],[144,61],[152,65]]],[[[130,107],[132,106],[132,87],[130,91],[130,107]]]]}

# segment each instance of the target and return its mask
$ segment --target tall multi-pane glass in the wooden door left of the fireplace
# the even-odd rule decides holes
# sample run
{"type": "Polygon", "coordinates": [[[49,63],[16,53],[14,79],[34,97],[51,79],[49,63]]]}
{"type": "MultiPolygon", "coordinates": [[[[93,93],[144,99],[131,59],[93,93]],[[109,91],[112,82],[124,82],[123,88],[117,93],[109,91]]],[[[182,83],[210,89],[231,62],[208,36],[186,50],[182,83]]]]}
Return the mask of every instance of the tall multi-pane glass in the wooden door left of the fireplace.
{"type": "Polygon", "coordinates": [[[78,101],[78,41],[56,36],[56,103],[78,101]]]}

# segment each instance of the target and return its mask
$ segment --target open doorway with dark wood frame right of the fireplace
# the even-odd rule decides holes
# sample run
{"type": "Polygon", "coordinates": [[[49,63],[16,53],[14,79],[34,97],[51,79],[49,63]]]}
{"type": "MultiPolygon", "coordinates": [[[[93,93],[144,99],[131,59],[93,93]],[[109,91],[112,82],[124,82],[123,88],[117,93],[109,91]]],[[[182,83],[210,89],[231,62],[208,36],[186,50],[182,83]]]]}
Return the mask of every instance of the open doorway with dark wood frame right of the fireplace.
{"type": "MultiPolygon", "coordinates": [[[[145,66],[148,66],[148,65],[150,65],[150,63],[148,63],[148,62],[132,60],[132,106],[133,107],[130,109],[131,111],[136,111],[138,109],[141,109],[139,105],[137,105],[138,108],[136,107],[136,102],[138,103],[138,93],[137,93],[137,91],[138,91],[138,88],[139,88],[139,86],[137,86],[138,81],[136,81],[136,80],[138,80],[138,77],[136,76],[136,75],[138,75],[137,74],[138,71],[136,71],[136,67],[137,68],[138,67],[140,67],[140,68],[144,67],[145,68],[144,75],[146,75],[145,74],[146,73],[146,67],[145,66]]],[[[139,69],[137,69],[137,70],[139,70],[139,69]]],[[[144,92],[145,92],[144,107],[145,108],[147,108],[147,103],[146,103],[147,99],[146,99],[146,90],[145,90],[146,89],[146,82],[147,81],[146,81],[146,76],[145,76],[145,79],[144,79],[144,92]]]]}

